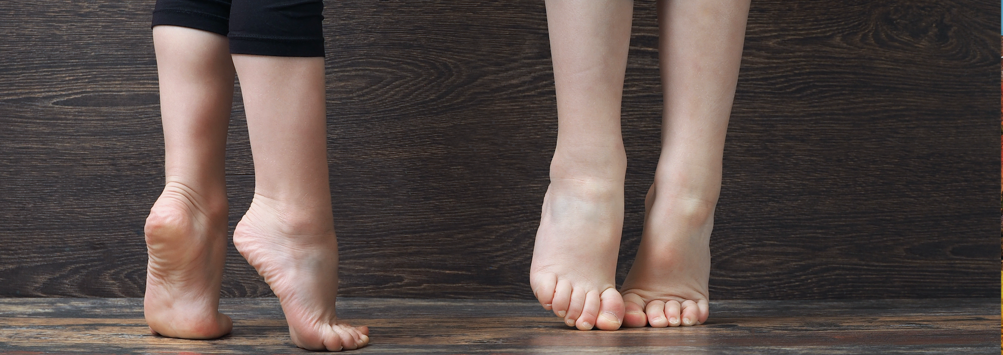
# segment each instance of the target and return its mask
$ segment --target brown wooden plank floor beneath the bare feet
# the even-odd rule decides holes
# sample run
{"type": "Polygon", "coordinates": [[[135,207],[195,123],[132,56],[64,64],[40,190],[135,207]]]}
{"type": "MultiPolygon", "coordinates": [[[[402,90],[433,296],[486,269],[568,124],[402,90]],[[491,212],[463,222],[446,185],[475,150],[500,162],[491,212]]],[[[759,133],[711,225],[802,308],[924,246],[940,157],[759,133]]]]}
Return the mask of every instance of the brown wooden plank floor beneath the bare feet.
{"type": "MultiPolygon", "coordinates": [[[[696,327],[582,332],[533,301],[341,299],[358,354],[986,354],[995,299],[720,301],[696,327]]],[[[2,299],[0,354],[300,354],[275,299],[223,299],[234,332],[153,336],[139,299],[2,299]]]]}

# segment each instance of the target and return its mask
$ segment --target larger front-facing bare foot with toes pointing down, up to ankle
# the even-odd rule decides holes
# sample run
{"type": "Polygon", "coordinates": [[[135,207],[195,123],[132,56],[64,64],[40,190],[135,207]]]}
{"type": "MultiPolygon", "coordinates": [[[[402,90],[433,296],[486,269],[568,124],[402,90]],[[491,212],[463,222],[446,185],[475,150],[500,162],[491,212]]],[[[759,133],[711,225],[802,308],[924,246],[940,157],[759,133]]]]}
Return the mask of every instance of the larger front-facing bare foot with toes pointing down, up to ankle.
{"type": "Polygon", "coordinates": [[[620,328],[624,301],[615,277],[622,229],[622,184],[551,183],[530,269],[545,309],[580,330],[620,328]]]}

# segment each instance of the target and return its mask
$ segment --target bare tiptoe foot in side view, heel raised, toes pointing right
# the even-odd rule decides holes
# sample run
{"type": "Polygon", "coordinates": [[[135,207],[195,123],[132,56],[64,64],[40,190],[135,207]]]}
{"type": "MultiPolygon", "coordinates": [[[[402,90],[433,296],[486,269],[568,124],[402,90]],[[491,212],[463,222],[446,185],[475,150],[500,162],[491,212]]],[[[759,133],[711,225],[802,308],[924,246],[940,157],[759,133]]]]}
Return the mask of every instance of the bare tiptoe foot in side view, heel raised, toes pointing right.
{"type": "MultiPolygon", "coordinates": [[[[330,210],[327,210],[330,214],[330,210]]],[[[234,232],[234,245],[279,297],[296,346],[353,350],[369,328],[338,323],[338,242],[331,218],[255,195],[234,232]]]]}

